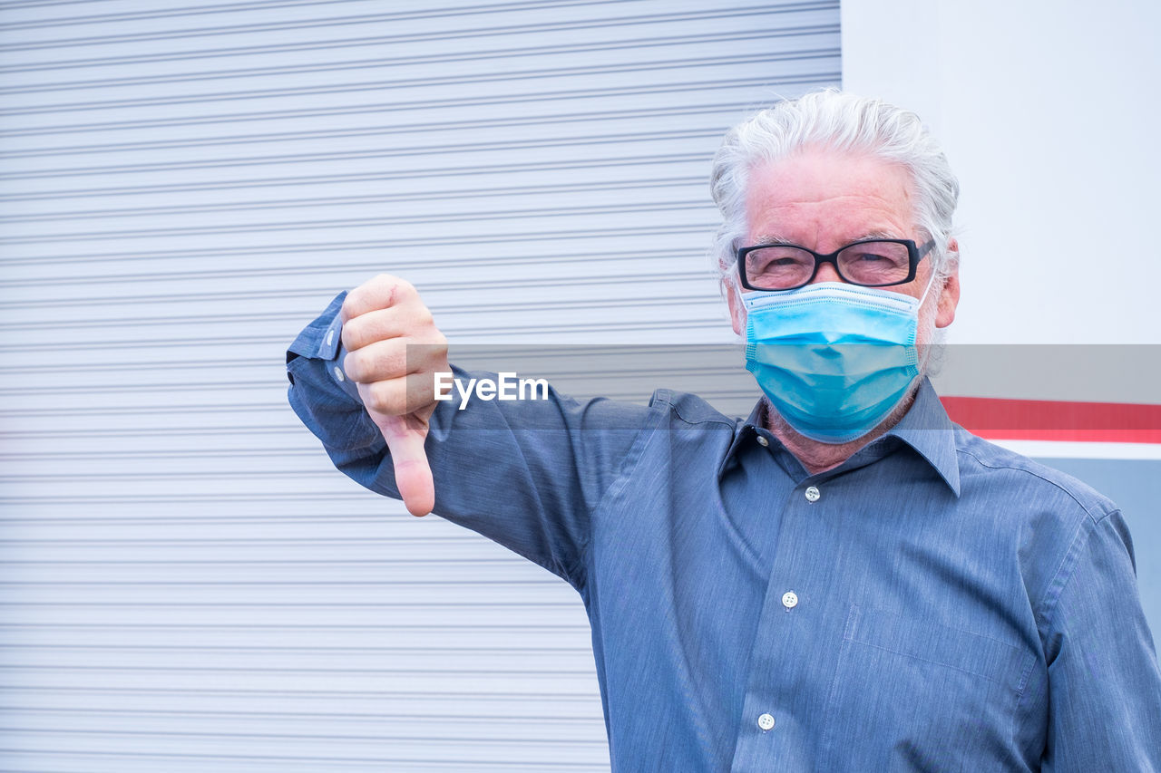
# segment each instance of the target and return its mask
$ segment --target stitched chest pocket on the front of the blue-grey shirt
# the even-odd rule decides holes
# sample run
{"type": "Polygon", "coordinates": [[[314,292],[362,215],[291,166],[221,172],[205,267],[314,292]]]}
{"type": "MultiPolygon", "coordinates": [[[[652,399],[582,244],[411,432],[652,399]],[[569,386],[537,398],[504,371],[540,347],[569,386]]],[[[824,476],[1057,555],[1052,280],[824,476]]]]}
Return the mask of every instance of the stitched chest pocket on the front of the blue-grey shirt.
{"type": "Polygon", "coordinates": [[[995,638],[851,606],[819,770],[1022,770],[1012,722],[1033,663],[995,638]]]}

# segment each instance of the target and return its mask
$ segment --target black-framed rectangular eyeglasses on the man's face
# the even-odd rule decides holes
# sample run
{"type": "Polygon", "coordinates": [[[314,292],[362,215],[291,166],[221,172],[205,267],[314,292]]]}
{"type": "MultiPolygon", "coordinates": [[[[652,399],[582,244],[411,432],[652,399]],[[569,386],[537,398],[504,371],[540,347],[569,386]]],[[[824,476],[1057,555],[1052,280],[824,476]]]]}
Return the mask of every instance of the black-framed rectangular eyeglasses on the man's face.
{"type": "Polygon", "coordinates": [[[821,255],[792,244],[759,244],[737,251],[737,273],[748,290],[796,290],[814,281],[819,266],[831,263],[839,279],[860,287],[890,287],[915,279],[915,269],[936,243],[917,247],[911,239],[864,239],[821,255]]]}

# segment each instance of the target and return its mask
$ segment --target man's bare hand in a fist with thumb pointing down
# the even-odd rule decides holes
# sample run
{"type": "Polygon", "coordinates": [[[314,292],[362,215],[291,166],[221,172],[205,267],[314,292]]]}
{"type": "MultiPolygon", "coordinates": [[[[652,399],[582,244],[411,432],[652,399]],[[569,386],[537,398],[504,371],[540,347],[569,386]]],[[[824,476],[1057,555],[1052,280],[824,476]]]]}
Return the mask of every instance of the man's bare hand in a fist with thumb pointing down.
{"type": "Polygon", "coordinates": [[[351,290],[340,316],[347,377],[387,440],[408,512],[426,515],[435,486],[424,440],[435,410],[434,374],[450,370],[447,339],[416,288],[387,274],[351,290]]]}

